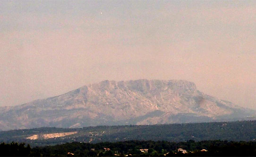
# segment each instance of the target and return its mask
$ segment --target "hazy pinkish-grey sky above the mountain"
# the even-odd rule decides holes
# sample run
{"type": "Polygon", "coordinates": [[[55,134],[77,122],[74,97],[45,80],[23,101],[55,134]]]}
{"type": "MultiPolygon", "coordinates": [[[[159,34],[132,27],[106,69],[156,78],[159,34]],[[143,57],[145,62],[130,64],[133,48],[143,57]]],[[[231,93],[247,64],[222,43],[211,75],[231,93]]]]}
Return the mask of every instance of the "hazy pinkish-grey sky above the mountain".
{"type": "Polygon", "coordinates": [[[256,109],[256,1],[0,1],[0,106],[185,79],[256,109]]]}

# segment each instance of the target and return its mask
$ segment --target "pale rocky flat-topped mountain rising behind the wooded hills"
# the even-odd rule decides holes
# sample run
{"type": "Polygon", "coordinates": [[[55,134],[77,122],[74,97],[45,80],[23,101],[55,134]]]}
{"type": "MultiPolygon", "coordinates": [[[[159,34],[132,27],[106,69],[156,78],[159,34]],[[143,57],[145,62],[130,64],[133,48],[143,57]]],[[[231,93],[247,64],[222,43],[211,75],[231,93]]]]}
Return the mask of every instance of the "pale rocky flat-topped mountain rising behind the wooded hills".
{"type": "Polygon", "coordinates": [[[185,80],[102,81],[0,109],[1,130],[239,120],[254,110],[203,94],[185,80]]]}

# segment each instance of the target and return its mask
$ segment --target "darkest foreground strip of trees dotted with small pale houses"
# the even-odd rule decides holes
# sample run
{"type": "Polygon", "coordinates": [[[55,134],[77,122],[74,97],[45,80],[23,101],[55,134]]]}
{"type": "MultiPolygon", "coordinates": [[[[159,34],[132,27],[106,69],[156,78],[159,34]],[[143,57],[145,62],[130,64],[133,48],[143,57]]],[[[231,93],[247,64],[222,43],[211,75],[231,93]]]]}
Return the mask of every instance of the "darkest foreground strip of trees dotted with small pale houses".
{"type": "Polygon", "coordinates": [[[190,157],[256,156],[254,141],[119,141],[100,143],[72,142],[30,148],[25,143],[1,143],[3,157],[190,157]],[[183,151],[179,151],[182,149],[183,151]],[[147,150],[147,151],[142,151],[147,150]]]}

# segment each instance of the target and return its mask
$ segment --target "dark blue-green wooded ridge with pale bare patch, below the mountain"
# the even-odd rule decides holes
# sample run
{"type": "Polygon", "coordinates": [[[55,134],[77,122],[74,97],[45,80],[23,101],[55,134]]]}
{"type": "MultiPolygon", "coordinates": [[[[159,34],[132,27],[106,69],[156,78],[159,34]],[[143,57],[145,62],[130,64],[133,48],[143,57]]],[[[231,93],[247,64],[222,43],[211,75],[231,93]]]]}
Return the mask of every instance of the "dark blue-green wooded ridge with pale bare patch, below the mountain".
{"type": "Polygon", "coordinates": [[[256,141],[256,121],[210,122],[143,126],[43,127],[0,132],[0,142],[26,142],[31,146],[66,142],[116,141],[256,141]]]}

